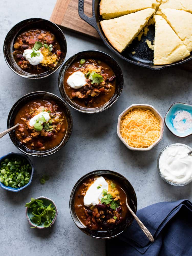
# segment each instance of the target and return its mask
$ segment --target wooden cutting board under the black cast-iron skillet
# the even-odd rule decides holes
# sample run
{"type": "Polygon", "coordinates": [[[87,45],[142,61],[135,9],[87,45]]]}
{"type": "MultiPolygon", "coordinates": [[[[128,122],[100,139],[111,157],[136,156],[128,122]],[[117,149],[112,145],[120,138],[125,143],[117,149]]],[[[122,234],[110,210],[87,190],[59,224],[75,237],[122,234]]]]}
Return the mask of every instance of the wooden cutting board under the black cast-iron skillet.
{"type": "MultiPolygon", "coordinates": [[[[84,13],[92,17],[92,0],[84,0],[84,13]]],[[[50,20],[66,29],[101,40],[97,31],[79,17],[78,0],[57,0],[50,20]]],[[[192,72],[192,61],[179,67],[192,72]]]]}

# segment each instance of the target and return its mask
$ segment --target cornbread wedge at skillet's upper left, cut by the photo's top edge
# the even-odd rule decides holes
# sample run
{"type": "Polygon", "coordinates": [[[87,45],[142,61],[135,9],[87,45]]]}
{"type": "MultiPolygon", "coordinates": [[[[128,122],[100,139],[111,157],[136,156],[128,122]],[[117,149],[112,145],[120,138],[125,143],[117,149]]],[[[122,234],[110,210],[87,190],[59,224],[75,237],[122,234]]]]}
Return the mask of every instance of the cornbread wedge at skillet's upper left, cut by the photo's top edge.
{"type": "Polygon", "coordinates": [[[112,19],[146,8],[156,8],[156,0],[101,0],[100,15],[103,19],[112,19]]]}

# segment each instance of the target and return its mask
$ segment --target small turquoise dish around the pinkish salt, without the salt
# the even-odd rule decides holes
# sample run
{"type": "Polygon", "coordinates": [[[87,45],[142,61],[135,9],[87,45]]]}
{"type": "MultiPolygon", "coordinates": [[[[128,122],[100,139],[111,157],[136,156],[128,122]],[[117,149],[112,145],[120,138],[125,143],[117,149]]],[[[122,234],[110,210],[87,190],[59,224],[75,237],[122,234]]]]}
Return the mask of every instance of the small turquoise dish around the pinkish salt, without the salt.
{"type": "MultiPolygon", "coordinates": [[[[183,138],[183,137],[187,137],[192,134],[192,127],[190,129],[188,129],[187,131],[180,133],[173,126],[173,121],[175,119],[175,113],[177,111],[181,111],[181,110],[185,110],[192,115],[192,105],[186,104],[186,103],[181,103],[181,102],[174,103],[173,105],[170,106],[169,110],[167,111],[167,113],[165,115],[165,125],[167,126],[169,131],[172,132],[175,136],[183,138]]],[[[182,122],[185,123],[186,119],[183,119],[182,122]]]]}

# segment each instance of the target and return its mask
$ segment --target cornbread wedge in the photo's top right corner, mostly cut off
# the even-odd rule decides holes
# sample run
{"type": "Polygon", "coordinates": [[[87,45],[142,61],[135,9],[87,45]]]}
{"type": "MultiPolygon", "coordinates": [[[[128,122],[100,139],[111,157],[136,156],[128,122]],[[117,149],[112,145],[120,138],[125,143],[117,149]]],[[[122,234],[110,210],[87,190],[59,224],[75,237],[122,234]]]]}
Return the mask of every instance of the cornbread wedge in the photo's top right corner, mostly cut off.
{"type": "Polygon", "coordinates": [[[178,9],[192,13],[192,1],[191,0],[162,0],[159,9],[178,9]]]}

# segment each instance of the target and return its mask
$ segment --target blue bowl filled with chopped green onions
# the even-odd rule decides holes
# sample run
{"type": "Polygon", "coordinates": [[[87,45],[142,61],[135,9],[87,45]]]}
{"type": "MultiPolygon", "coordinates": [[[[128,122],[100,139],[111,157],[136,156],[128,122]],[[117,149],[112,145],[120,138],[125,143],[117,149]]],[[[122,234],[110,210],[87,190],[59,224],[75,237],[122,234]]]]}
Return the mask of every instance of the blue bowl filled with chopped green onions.
{"type": "Polygon", "coordinates": [[[18,192],[31,184],[34,166],[21,153],[10,152],[0,158],[0,186],[18,192]]]}

